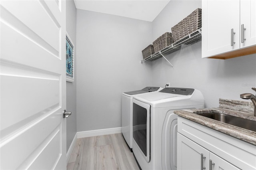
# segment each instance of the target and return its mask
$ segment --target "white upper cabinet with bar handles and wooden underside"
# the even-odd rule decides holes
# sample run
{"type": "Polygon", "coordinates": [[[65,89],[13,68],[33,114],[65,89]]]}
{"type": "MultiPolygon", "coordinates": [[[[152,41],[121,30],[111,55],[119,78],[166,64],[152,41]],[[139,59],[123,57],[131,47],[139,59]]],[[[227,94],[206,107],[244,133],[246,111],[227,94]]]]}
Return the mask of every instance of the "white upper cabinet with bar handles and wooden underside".
{"type": "Polygon", "coordinates": [[[227,59],[255,53],[255,6],[255,0],[202,0],[202,57],[227,59]]]}

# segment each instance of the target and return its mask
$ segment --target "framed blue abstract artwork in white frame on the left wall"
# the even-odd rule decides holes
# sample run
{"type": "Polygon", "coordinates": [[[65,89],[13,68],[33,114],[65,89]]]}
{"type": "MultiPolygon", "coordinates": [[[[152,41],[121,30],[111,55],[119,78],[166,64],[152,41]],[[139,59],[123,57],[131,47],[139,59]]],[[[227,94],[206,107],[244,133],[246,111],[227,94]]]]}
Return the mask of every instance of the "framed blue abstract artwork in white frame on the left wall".
{"type": "Polygon", "coordinates": [[[74,79],[74,46],[66,36],[66,77],[74,79]]]}

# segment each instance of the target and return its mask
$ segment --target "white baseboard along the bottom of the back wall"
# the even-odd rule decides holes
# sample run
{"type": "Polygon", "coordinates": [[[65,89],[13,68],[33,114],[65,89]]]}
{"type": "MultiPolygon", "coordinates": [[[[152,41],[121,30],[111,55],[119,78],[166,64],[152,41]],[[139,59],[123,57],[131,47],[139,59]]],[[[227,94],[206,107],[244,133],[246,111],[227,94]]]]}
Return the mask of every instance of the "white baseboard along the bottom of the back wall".
{"type": "Polygon", "coordinates": [[[121,132],[122,132],[121,127],[88,130],[88,131],[77,132],[77,138],[86,138],[91,136],[100,136],[100,135],[115,134],[115,133],[121,133],[121,132]]]}

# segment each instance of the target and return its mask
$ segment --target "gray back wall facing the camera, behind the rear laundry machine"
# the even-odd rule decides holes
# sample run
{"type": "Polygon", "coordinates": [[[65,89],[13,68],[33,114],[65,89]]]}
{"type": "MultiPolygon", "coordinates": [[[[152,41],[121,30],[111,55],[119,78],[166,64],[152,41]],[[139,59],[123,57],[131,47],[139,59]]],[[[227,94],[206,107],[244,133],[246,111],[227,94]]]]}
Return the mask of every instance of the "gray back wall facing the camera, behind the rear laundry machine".
{"type": "Polygon", "coordinates": [[[121,127],[121,93],[152,85],[152,22],[77,10],[77,131],[121,127]]]}

